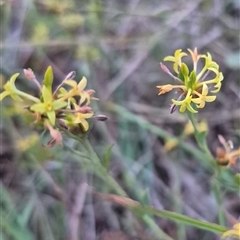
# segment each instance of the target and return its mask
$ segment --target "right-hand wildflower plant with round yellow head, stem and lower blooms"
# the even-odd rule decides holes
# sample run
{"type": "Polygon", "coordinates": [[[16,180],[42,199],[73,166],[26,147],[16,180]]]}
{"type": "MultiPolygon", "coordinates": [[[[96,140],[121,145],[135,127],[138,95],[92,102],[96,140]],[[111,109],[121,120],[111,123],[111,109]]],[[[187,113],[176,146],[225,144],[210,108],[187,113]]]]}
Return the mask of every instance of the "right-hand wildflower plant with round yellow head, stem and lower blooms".
{"type": "MultiPolygon", "coordinates": [[[[164,61],[173,63],[173,72],[169,68],[160,63],[162,70],[167,73],[176,82],[175,85],[166,84],[159,85],[159,95],[165,94],[172,90],[177,90],[177,99],[172,99],[172,105],[170,108],[170,113],[173,113],[177,107],[181,113],[187,112],[187,117],[190,120],[192,129],[194,130],[194,135],[198,146],[202,151],[203,158],[209,160],[212,165],[211,170],[214,172],[214,177],[216,179],[220,178],[221,167],[233,167],[236,161],[240,158],[240,148],[233,150],[233,144],[231,141],[226,141],[223,136],[219,135],[218,140],[222,144],[222,147],[216,149],[215,155],[213,155],[207,144],[207,133],[208,129],[199,128],[198,121],[196,119],[196,113],[198,110],[205,107],[208,102],[213,102],[217,98],[217,93],[221,90],[222,81],[224,79],[222,72],[219,71],[219,65],[212,60],[210,53],[205,55],[198,54],[197,48],[194,50],[188,49],[187,52],[183,52],[182,49],[175,51],[174,56],[167,56],[164,61]],[[191,56],[192,67],[189,68],[187,64],[183,61],[183,58],[191,56]],[[203,60],[204,64],[200,68],[199,62],[203,60]],[[210,78],[209,76],[212,76],[210,78]]],[[[189,124],[188,124],[189,129],[189,124]]],[[[187,131],[188,132],[188,131],[187,131]]],[[[172,149],[176,147],[178,141],[175,139],[167,139],[165,148],[172,149]]],[[[240,175],[235,175],[235,183],[238,185],[238,190],[240,186],[240,175]]],[[[214,190],[216,199],[219,199],[220,186],[214,178],[212,182],[212,188],[214,190]]],[[[219,222],[223,225],[224,216],[222,213],[219,214],[219,222]]],[[[237,222],[237,220],[236,220],[237,222]]],[[[227,237],[240,237],[240,223],[236,223],[232,229],[225,230],[222,232],[222,238],[227,237]]]]}

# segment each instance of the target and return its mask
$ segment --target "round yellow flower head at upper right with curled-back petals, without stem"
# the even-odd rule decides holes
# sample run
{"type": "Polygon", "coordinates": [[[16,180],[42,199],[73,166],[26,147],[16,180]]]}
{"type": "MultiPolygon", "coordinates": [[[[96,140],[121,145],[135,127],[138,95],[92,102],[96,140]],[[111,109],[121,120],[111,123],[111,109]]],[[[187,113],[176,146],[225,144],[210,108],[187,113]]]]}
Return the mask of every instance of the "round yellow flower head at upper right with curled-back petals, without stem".
{"type": "Polygon", "coordinates": [[[164,61],[173,62],[173,70],[177,76],[173,75],[163,63],[160,66],[164,72],[170,75],[179,84],[177,85],[160,85],[159,95],[170,92],[173,89],[179,90],[178,99],[172,99],[171,113],[180,106],[180,112],[186,109],[192,113],[197,113],[196,108],[204,108],[206,102],[213,102],[216,99],[216,93],[220,91],[223,74],[219,72],[219,65],[212,60],[210,53],[199,55],[197,48],[193,51],[188,49],[193,61],[193,68],[190,71],[188,66],[182,62],[182,58],[188,56],[181,49],[175,51],[174,56],[167,56],[164,61]],[[205,60],[205,64],[201,70],[198,69],[200,59],[205,60]],[[214,74],[212,79],[207,79],[210,73],[214,74]],[[209,86],[212,85],[213,89],[209,86]],[[209,95],[211,94],[211,95],[209,95]]]}

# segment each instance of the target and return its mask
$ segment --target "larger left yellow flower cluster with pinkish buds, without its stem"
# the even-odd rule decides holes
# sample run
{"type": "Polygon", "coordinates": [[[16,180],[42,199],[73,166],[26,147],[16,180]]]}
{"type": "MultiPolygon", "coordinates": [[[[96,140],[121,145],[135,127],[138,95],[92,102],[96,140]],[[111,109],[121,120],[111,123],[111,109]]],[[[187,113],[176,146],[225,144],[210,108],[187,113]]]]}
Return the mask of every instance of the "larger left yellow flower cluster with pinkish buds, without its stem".
{"type": "Polygon", "coordinates": [[[96,98],[91,96],[95,92],[94,90],[85,90],[87,85],[85,77],[77,83],[73,80],[75,72],[70,72],[52,92],[53,72],[51,67],[48,67],[45,72],[42,85],[37,81],[31,69],[24,69],[24,74],[28,80],[37,85],[40,97],[37,98],[19,90],[15,86],[15,81],[19,76],[19,73],[16,73],[3,86],[4,91],[0,94],[0,101],[6,96],[10,96],[16,101],[27,100],[30,103],[27,109],[36,116],[36,122],[43,123],[52,136],[49,146],[62,141],[62,136],[55,129],[56,127],[61,126],[66,129],[80,127],[83,132],[89,129],[87,119],[94,116],[89,105],[91,99],[96,100],[96,98]]]}

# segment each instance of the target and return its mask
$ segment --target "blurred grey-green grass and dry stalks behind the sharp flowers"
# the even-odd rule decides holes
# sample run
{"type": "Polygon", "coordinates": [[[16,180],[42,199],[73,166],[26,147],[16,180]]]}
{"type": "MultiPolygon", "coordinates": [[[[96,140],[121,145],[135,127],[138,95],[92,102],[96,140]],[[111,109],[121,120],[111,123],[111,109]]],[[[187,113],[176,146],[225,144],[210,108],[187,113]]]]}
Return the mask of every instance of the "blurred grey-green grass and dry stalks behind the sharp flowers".
{"type": "MultiPolygon", "coordinates": [[[[158,96],[156,85],[173,83],[159,66],[166,55],[179,48],[210,52],[225,79],[198,118],[208,123],[213,154],[219,134],[239,146],[239,0],[1,0],[0,6],[1,85],[20,72],[17,86],[37,94],[22,70],[32,68],[41,82],[49,65],[56,86],[70,71],[77,81],[86,76],[100,99],[94,111],[109,117],[92,122],[90,142],[100,158],[112,146],[109,173],[129,197],[215,223],[222,212],[232,225],[240,215],[232,183],[238,167],[214,179],[187,117],[169,113],[174,93],[158,96]]],[[[11,99],[1,103],[0,239],[219,239],[161,218],[153,218],[162,231],[156,234],[125,208],[89,194],[85,183],[114,192],[70,151],[43,147],[41,130],[22,108],[11,99]]]]}

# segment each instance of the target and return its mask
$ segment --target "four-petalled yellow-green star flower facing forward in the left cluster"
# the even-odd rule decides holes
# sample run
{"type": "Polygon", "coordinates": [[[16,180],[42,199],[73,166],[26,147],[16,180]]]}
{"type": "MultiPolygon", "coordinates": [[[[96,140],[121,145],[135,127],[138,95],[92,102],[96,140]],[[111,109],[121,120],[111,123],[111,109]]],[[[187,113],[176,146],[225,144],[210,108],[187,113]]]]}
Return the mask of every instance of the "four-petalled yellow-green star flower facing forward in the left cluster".
{"type": "Polygon", "coordinates": [[[34,112],[46,114],[50,123],[54,126],[56,121],[56,110],[59,110],[67,105],[67,102],[62,100],[54,100],[49,88],[45,85],[42,87],[43,102],[36,103],[30,107],[34,112]]]}

